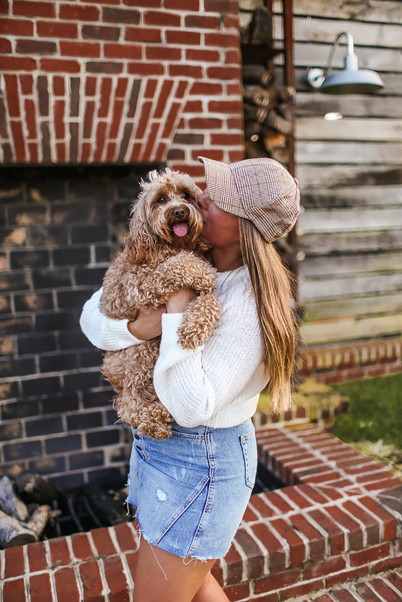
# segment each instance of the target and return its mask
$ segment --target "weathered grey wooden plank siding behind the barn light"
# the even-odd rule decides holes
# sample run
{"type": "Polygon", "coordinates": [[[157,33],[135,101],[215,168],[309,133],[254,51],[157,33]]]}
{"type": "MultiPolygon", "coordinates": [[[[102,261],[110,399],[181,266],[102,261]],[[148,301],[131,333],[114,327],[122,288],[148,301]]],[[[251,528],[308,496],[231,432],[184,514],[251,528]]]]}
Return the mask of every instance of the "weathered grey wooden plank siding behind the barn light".
{"type": "MultiPolygon", "coordinates": [[[[294,15],[302,338],[309,346],[401,336],[402,2],[294,0],[294,15]],[[379,94],[325,96],[307,85],[341,31],[352,34],[359,67],[383,78],[379,94]]],[[[345,52],[342,39],[334,69],[345,52]]]]}

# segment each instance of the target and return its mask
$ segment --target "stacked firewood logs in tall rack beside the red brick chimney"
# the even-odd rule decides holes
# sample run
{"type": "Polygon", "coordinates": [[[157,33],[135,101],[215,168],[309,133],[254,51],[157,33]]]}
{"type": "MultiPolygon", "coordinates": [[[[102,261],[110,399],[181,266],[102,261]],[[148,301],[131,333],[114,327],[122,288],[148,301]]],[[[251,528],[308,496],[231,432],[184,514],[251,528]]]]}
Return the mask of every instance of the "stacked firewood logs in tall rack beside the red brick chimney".
{"type": "Polygon", "coordinates": [[[240,33],[240,47],[246,157],[270,157],[289,167],[287,137],[294,128],[295,90],[277,85],[272,17],[266,8],[256,8],[240,33]]]}

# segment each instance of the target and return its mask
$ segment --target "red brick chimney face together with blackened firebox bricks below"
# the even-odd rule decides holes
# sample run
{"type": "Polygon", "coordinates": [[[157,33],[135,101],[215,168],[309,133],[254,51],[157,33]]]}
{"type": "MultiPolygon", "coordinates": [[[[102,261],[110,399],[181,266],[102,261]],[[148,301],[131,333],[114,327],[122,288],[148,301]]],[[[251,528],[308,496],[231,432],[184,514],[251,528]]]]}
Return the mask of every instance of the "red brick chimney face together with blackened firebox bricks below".
{"type": "Polygon", "coordinates": [[[128,435],[78,317],[149,167],[201,183],[197,155],[243,158],[237,2],[0,0],[0,17],[0,474],[110,481],[128,435]]]}

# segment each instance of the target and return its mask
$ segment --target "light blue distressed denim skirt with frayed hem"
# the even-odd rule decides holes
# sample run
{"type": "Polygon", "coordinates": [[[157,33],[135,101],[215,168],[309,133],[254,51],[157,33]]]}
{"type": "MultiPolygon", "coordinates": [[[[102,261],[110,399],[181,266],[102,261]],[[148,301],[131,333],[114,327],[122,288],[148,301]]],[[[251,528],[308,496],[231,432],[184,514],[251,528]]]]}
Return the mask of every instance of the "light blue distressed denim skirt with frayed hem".
{"type": "Polygon", "coordinates": [[[251,420],[228,429],[172,423],[163,441],[133,435],[127,501],[137,509],[140,534],[175,556],[224,556],[256,479],[251,420]]]}

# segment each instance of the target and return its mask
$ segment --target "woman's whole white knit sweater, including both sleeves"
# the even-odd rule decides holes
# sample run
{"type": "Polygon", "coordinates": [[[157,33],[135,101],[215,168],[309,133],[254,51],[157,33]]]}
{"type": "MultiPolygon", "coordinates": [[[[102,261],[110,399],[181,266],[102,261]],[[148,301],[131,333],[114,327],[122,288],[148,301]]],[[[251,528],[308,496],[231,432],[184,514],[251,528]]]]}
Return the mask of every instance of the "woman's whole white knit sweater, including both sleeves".
{"type": "MultiPolygon", "coordinates": [[[[178,344],[183,314],[162,315],[162,341],[154,370],[155,391],[181,426],[203,424],[228,428],[251,418],[264,374],[263,342],[256,301],[246,267],[216,275],[222,317],[209,340],[195,350],[178,344]]],[[[140,343],[127,320],[110,320],[99,312],[102,290],[84,305],[81,328],[101,349],[125,349],[140,343]]]]}

